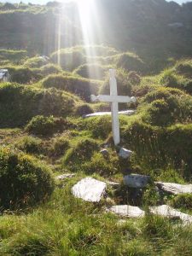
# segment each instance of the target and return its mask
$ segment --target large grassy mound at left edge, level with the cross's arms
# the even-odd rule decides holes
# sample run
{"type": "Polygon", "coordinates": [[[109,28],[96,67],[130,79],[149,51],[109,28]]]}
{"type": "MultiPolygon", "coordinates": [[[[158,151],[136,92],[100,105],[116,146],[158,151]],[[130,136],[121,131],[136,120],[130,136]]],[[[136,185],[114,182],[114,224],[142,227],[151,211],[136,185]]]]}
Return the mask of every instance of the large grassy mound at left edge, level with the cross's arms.
{"type": "Polygon", "coordinates": [[[73,96],[20,84],[0,85],[0,127],[20,127],[36,115],[66,116],[73,113],[73,96]]]}

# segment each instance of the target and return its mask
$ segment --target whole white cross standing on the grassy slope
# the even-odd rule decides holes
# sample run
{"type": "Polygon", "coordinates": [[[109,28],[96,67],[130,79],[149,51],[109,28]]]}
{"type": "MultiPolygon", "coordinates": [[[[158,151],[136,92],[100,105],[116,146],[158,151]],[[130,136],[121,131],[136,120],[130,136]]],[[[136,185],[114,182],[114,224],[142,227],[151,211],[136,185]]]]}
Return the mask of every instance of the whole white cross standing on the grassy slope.
{"type": "Polygon", "coordinates": [[[136,98],[129,97],[129,96],[118,96],[117,81],[115,79],[115,75],[116,75],[115,69],[110,69],[109,70],[110,96],[91,95],[90,99],[92,102],[111,102],[113,141],[115,145],[118,145],[120,143],[118,103],[136,102],[136,98]]]}

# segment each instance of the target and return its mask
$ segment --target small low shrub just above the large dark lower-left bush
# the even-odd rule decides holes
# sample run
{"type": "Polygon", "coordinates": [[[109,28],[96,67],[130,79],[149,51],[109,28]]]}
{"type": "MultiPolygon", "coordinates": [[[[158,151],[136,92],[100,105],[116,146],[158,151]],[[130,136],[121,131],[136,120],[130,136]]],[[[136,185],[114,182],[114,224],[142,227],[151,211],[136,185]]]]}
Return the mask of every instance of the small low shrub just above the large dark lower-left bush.
{"type": "Polygon", "coordinates": [[[42,141],[36,137],[22,137],[15,146],[27,154],[40,154],[42,151],[42,141]]]}

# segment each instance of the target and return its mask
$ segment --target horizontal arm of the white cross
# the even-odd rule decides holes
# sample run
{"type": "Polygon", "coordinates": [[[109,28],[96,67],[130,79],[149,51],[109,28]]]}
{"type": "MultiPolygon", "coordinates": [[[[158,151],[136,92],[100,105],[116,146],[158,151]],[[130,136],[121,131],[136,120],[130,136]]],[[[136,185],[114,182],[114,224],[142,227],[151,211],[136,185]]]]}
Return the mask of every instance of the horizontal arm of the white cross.
{"type": "Polygon", "coordinates": [[[135,97],[129,97],[129,96],[91,95],[90,99],[91,99],[91,102],[119,102],[119,103],[136,102],[135,97]]]}

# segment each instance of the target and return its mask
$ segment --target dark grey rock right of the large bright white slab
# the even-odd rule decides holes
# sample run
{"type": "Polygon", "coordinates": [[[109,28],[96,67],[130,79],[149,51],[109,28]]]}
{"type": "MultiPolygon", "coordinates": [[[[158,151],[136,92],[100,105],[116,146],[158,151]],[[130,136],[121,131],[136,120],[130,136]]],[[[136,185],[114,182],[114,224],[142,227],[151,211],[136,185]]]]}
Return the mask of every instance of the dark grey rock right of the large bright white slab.
{"type": "Polygon", "coordinates": [[[131,174],[124,177],[124,183],[130,188],[142,189],[148,185],[150,181],[149,176],[131,174]]]}

